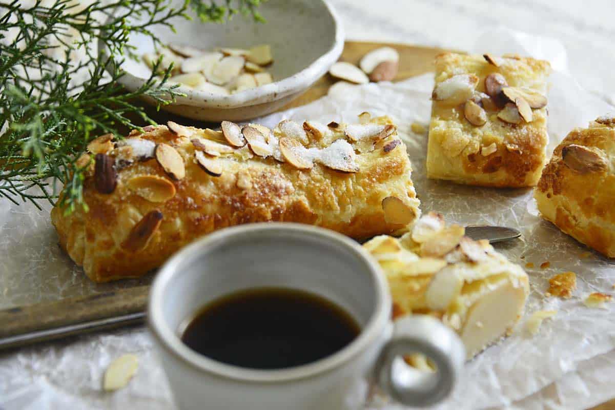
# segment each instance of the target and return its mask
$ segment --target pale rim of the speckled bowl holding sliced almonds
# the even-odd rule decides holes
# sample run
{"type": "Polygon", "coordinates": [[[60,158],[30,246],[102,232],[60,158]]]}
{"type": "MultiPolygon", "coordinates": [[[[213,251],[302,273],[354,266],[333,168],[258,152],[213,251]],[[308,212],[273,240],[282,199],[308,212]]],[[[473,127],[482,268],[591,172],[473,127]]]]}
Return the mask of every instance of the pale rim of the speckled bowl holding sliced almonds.
{"type": "MultiPolygon", "coordinates": [[[[243,90],[231,95],[217,95],[204,90],[182,90],[182,92],[186,93],[186,97],[176,96],[175,101],[171,104],[202,108],[241,108],[280,100],[280,98],[307,89],[323,76],[323,74],[327,73],[328,69],[338,60],[344,49],[344,29],[338,14],[327,0],[318,1],[325,6],[325,9],[328,10],[329,15],[333,18],[335,40],[327,52],[312,61],[309,66],[292,74],[292,76],[274,81],[271,84],[261,85],[260,87],[243,90]]],[[[190,22],[190,24],[202,23],[190,22]]],[[[109,57],[108,50],[104,47],[102,41],[98,42],[98,49],[105,58],[109,57]]],[[[120,84],[131,91],[138,89],[138,87],[145,84],[146,81],[147,79],[134,76],[129,71],[125,71],[124,75],[118,79],[120,84]]]]}

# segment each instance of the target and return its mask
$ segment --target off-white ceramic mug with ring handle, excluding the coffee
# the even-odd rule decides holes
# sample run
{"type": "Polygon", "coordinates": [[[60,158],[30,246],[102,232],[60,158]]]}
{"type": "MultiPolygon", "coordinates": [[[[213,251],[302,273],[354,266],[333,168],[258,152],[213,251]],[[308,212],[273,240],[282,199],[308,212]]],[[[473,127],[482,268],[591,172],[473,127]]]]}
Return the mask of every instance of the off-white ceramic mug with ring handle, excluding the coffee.
{"type": "Polygon", "coordinates": [[[148,322],[183,410],[359,408],[365,380],[392,400],[427,406],[451,392],[466,357],[459,337],[434,318],[410,316],[392,323],[386,278],[358,243],[292,223],[231,227],[183,248],[154,280],[148,322]],[[319,294],[350,313],[362,330],[329,357],[277,370],[227,365],[181,342],[186,320],[208,302],[262,287],[319,294]],[[427,355],[437,371],[405,365],[402,355],[410,353],[427,355]]]}

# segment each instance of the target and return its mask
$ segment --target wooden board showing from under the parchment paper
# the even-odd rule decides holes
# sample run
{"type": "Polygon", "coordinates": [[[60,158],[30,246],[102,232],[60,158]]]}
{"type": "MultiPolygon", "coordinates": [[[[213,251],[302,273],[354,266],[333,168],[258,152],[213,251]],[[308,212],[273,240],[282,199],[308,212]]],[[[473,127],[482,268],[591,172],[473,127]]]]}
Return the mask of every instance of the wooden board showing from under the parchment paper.
{"type": "MultiPolygon", "coordinates": [[[[394,81],[433,71],[435,56],[446,51],[416,45],[347,41],[340,61],[348,61],[357,65],[367,52],[384,45],[393,47],[399,52],[399,72],[394,81]]],[[[325,74],[308,91],[284,109],[311,103],[327,95],[327,90],[335,82],[333,77],[325,74]]],[[[173,117],[172,114],[162,111],[157,114],[153,112],[152,115],[161,123],[169,119],[186,123],[185,119],[173,117]]],[[[89,279],[84,275],[83,280],[89,279]]],[[[2,324],[0,326],[0,350],[87,331],[143,323],[148,293],[149,286],[135,286],[79,298],[61,299],[57,302],[0,310],[0,323],[2,324]]],[[[615,410],[615,400],[600,404],[593,410],[615,410]]]]}

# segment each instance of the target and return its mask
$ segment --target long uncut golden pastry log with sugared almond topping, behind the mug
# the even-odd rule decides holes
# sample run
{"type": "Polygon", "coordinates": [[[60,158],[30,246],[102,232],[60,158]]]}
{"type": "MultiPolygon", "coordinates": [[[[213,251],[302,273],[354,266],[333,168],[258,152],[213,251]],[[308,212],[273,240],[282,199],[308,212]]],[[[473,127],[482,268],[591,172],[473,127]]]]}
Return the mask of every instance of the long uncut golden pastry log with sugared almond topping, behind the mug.
{"type": "Polygon", "coordinates": [[[405,145],[388,117],[361,119],[274,130],[223,122],[218,132],[169,122],[125,140],[101,136],[78,160],[89,167],[89,211],[55,207],[52,223],[96,282],[143,275],[237,224],[314,224],[356,239],[403,232],[420,214],[405,145]]]}

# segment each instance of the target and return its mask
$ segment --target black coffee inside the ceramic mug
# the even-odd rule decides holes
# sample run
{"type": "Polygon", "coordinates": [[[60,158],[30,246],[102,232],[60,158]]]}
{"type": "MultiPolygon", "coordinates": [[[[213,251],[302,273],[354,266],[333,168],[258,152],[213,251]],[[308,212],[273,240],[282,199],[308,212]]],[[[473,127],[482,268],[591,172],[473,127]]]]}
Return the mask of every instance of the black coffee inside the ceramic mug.
{"type": "Polygon", "coordinates": [[[181,340],[229,365],[282,369],[332,355],[359,333],[351,315],[327,299],[298,290],[260,288],[208,304],[181,340]]]}

